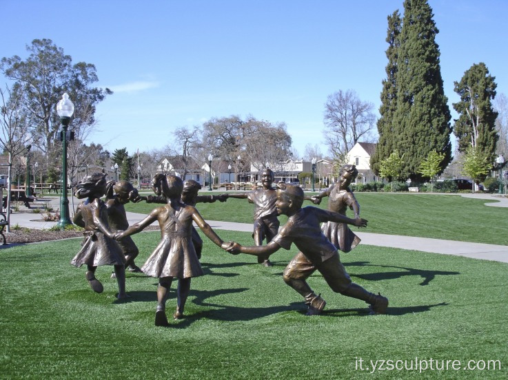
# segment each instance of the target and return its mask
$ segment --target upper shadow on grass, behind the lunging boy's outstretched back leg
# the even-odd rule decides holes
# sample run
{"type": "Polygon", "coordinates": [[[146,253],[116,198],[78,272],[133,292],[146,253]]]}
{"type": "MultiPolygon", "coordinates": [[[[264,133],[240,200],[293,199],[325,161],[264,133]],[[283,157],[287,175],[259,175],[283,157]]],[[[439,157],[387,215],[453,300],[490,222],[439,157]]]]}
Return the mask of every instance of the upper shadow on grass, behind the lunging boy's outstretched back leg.
{"type": "Polygon", "coordinates": [[[352,274],[349,275],[365,279],[367,281],[380,281],[382,279],[397,279],[403,276],[420,276],[423,281],[420,282],[420,286],[428,285],[436,276],[440,275],[460,275],[460,272],[451,271],[426,271],[424,269],[407,268],[405,266],[391,266],[391,265],[380,265],[380,264],[369,264],[369,262],[349,262],[343,263],[344,266],[377,266],[381,268],[394,268],[403,269],[403,271],[393,272],[379,272],[379,273],[367,273],[367,274],[352,274]]]}

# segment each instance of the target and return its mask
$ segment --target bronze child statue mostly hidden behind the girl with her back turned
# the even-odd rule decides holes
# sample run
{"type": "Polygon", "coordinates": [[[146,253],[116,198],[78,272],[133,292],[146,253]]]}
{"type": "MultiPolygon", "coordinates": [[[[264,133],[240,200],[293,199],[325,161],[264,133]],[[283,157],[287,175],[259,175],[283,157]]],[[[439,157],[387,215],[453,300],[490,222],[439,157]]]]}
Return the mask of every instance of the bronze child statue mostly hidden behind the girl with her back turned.
{"type": "MultiPolygon", "coordinates": [[[[141,202],[144,200],[147,203],[167,203],[165,196],[161,195],[161,184],[163,183],[163,174],[156,174],[152,179],[152,190],[157,196],[138,196],[134,202],[141,202]]],[[[183,182],[183,191],[181,201],[189,206],[196,206],[196,203],[213,203],[216,200],[225,202],[225,196],[199,196],[198,191],[201,189],[201,184],[195,180],[186,180],[183,182]]],[[[198,231],[192,226],[192,244],[196,249],[196,255],[201,260],[201,253],[203,251],[203,240],[199,236],[198,231]]]]}

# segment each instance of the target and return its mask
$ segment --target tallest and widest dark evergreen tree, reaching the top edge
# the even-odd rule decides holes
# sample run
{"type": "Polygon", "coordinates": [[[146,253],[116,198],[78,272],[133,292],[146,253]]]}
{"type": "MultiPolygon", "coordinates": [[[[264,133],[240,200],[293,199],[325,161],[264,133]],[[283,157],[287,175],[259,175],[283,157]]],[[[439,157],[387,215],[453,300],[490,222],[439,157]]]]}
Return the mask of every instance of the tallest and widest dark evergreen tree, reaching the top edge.
{"type": "Polygon", "coordinates": [[[396,147],[405,154],[403,176],[420,180],[420,164],[430,151],[451,162],[451,125],[439,64],[439,32],[427,0],[405,0],[397,56],[396,147]]]}

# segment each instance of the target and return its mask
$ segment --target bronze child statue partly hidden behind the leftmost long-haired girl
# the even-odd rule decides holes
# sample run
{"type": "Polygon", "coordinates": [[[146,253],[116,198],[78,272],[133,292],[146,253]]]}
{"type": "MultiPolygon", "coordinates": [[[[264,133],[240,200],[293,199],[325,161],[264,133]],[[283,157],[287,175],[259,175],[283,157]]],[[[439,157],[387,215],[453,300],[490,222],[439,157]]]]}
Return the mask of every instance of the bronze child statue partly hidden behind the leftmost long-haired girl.
{"type": "MultiPolygon", "coordinates": [[[[110,181],[106,184],[106,207],[108,208],[108,220],[112,232],[123,231],[128,228],[129,222],[123,205],[137,197],[138,191],[128,181],[110,181]]],[[[139,266],[134,263],[134,259],[139,255],[139,249],[132,237],[125,237],[119,240],[118,244],[123,251],[123,255],[125,255],[125,269],[134,273],[141,272],[139,266]]],[[[115,274],[113,273],[111,277],[115,277],[115,274]]]]}

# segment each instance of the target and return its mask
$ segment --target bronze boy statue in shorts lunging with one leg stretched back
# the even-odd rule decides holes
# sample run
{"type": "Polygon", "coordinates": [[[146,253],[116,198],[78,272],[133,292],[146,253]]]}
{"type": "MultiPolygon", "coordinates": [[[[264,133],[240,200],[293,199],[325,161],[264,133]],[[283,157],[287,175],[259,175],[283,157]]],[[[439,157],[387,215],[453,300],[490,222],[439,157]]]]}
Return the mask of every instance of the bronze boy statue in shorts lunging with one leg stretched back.
{"type": "Polygon", "coordinates": [[[325,300],[320,295],[316,295],[305,282],[305,279],[316,270],[323,275],[332,291],[348,297],[362,299],[370,304],[372,314],[385,313],[388,299],[382,295],[369,293],[351,281],[339,259],[337,249],[327,240],[319,228],[321,222],[327,221],[365,227],[367,226],[367,220],[349,219],[339,213],[325,211],[317,207],[304,207],[302,209],[303,190],[290,184],[279,183],[276,193],[278,213],[287,215],[289,218],[272,242],[266,246],[241,246],[234,243],[227,251],[248,253],[250,255],[267,255],[274,253],[281,247],[289,249],[291,244],[294,243],[300,252],[287,264],[283,278],[286,284],[305,298],[305,303],[309,305],[307,315],[321,313],[326,304],[325,300]]]}

